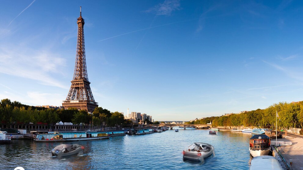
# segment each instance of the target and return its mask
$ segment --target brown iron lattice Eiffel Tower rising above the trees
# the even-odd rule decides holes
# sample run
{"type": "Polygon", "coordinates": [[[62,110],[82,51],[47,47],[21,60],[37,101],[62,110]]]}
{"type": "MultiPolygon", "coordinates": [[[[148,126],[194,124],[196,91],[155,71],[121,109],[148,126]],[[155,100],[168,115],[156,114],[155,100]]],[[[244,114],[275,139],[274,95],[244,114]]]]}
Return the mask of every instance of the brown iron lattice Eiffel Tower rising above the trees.
{"type": "Polygon", "coordinates": [[[80,16],[77,19],[78,37],[74,78],[71,80],[71,88],[66,100],[62,102],[62,106],[65,109],[77,108],[92,113],[93,110],[98,107],[98,103],[95,102],[87,76],[83,30],[84,19],[81,16],[81,6],[80,16]]]}

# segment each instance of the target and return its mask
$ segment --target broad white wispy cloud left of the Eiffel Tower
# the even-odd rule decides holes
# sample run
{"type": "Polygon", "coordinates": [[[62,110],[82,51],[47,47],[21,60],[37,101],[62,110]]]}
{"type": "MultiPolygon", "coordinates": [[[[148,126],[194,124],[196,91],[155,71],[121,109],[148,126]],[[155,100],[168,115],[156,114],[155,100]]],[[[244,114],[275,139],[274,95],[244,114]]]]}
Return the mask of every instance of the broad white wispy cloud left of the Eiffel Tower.
{"type": "Polygon", "coordinates": [[[65,59],[48,51],[35,51],[29,48],[12,46],[0,47],[0,73],[37,80],[43,85],[68,89],[51,73],[60,73],[65,59]]]}

